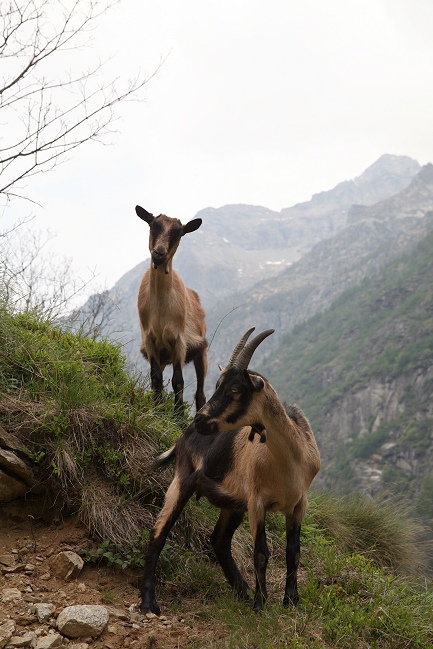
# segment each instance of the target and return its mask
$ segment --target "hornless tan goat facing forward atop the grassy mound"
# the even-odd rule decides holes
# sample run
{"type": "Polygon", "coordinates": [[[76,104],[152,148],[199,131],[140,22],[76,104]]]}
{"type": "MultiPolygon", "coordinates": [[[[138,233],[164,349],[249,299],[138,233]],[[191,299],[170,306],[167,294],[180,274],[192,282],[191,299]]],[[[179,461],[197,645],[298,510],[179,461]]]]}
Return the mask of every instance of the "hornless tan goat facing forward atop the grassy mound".
{"type": "Polygon", "coordinates": [[[172,268],[173,256],[180,239],[197,230],[201,219],[182,225],[179,219],[165,214],[153,216],[136,206],[140,219],[150,227],[150,268],[141,280],[138,292],[140,317],[140,351],[150,363],[152,390],[160,400],[163,389],[163,371],[173,365],[172,386],[175,408],[183,402],[183,367],[194,362],[197,376],[196,409],[206,401],[204,381],[207,373],[207,341],[205,313],[196,291],[187,288],[172,268]]]}

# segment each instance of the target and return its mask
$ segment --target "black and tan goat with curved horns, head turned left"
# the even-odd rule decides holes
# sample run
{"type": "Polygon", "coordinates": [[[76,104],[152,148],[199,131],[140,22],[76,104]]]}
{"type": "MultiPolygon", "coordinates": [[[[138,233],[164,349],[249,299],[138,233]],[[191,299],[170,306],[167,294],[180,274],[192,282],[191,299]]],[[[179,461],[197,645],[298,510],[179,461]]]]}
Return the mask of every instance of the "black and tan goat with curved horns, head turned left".
{"type": "Polygon", "coordinates": [[[299,600],[301,523],[307,490],[320,468],[320,455],[302,411],[295,405],[286,410],[270,383],[247,369],[258,345],[274,330],[264,331],[247,343],[253,331],[246,332],[227,367],[220,368],[216,391],[194,422],[157,460],[157,465],[162,466],[174,457],[176,468],[150,536],[141,588],[143,612],[160,613],[155,599],[158,557],[194,493],[220,508],[211,545],[234,592],[253,603],[255,611],[263,608],[267,598],[266,512],[285,515],[287,576],[283,605],[296,605],[299,600]],[[246,512],[254,542],[253,601],[231,552],[233,534],[246,512]]]}

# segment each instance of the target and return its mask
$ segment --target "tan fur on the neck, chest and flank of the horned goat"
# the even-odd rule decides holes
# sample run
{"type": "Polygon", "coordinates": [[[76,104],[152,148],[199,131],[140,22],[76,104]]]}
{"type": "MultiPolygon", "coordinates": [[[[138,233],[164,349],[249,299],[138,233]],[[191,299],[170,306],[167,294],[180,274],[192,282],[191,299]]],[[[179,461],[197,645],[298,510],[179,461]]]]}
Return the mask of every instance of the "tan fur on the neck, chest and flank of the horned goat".
{"type": "MultiPolygon", "coordinates": [[[[254,394],[247,414],[235,425],[260,422],[265,427],[266,442],[261,443],[258,435],[250,441],[251,428],[243,428],[236,438],[234,466],[221,484],[225,495],[247,501],[253,534],[266,510],[285,515],[296,512],[301,522],[308,488],[320,469],[319,450],[307,418],[297,406],[291,406],[294,417],[290,417],[274,388],[268,381],[264,383],[263,390],[254,394]]],[[[205,414],[206,409],[207,405],[200,412],[205,414]]],[[[220,431],[233,427],[226,422],[228,412],[217,420],[220,431]]]]}

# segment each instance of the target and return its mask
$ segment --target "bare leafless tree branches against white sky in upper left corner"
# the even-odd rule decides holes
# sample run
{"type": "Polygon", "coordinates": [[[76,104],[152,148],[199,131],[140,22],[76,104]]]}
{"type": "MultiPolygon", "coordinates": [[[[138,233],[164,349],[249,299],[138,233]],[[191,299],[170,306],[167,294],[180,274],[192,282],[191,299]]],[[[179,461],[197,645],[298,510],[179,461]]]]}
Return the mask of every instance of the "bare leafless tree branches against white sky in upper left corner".
{"type": "MultiPolygon", "coordinates": [[[[0,194],[52,170],[85,142],[112,133],[115,107],[137,99],[149,77],[103,78],[103,64],[53,74],[64,53],[89,46],[91,31],[117,0],[6,0],[0,12],[0,194]]],[[[68,56],[69,65],[70,55],[68,56]]]]}

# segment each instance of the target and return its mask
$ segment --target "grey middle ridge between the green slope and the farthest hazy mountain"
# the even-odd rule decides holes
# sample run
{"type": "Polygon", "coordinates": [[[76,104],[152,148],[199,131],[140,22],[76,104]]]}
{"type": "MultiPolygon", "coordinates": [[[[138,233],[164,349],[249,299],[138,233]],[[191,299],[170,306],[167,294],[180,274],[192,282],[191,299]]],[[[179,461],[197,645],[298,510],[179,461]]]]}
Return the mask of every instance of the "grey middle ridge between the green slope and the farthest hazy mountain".
{"type": "MultiPolygon", "coordinates": [[[[326,309],[346,288],[356,286],[420,241],[433,227],[432,210],[431,164],[422,167],[396,195],[371,206],[352,206],[346,227],[334,237],[317,243],[277,276],[207,310],[209,330],[217,330],[212,359],[224,364],[240,334],[249,327],[273,327],[275,334],[257,351],[260,359],[296,324],[326,309]]],[[[217,375],[214,368],[216,362],[210,365],[211,379],[217,375]]]]}

